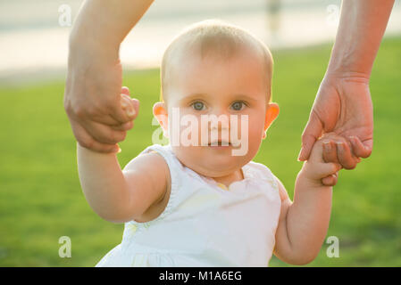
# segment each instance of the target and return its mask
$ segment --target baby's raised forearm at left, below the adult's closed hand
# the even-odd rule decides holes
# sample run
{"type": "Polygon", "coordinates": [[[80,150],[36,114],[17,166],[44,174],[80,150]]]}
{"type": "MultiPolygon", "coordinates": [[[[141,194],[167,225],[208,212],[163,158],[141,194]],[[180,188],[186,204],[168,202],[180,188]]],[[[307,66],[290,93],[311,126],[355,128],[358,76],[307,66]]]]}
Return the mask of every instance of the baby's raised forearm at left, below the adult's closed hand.
{"type": "Polygon", "coordinates": [[[128,185],[114,153],[99,153],[77,143],[79,181],[88,204],[97,215],[118,221],[125,215],[128,185]]]}

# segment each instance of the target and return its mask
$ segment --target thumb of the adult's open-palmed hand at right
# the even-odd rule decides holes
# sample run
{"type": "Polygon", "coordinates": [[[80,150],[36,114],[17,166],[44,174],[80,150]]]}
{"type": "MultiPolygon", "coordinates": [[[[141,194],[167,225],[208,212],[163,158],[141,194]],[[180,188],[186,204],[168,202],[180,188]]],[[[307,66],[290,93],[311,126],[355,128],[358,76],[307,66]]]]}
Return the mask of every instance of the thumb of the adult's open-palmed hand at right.
{"type": "Polygon", "coordinates": [[[322,134],[322,122],[312,112],[311,116],[305,126],[305,130],[302,134],[302,148],[298,155],[298,160],[305,161],[309,159],[313,144],[322,134]]]}

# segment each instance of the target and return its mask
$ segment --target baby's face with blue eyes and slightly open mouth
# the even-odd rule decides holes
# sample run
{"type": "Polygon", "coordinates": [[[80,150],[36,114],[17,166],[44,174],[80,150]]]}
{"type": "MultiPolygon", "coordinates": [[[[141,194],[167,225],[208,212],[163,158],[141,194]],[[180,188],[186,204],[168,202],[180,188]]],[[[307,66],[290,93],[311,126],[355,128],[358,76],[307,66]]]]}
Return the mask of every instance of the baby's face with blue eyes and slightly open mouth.
{"type": "Polygon", "coordinates": [[[201,175],[230,175],[255,157],[266,129],[269,83],[263,60],[244,50],[228,60],[192,55],[180,62],[172,70],[167,99],[172,150],[181,163],[201,175]],[[220,122],[202,122],[213,115],[222,116],[220,122]],[[237,122],[231,120],[235,117],[237,122]],[[233,134],[240,145],[233,145],[233,134]],[[209,145],[216,140],[228,140],[230,145],[209,145]]]}

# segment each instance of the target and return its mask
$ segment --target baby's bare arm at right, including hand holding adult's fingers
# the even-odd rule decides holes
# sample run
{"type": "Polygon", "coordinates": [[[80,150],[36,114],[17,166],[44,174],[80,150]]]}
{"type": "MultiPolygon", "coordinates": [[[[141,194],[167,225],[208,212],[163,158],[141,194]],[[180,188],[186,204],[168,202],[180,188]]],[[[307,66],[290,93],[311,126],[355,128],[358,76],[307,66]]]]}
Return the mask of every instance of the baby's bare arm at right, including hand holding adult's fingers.
{"type": "Polygon", "coordinates": [[[282,202],[274,254],[284,262],[305,265],[313,261],[322,247],[330,223],[332,195],[332,187],[323,185],[322,178],[341,169],[339,164],[323,161],[323,143],[336,147],[335,142],[347,143],[330,134],[314,144],[311,157],[297,175],[294,202],[278,180],[282,202]]]}

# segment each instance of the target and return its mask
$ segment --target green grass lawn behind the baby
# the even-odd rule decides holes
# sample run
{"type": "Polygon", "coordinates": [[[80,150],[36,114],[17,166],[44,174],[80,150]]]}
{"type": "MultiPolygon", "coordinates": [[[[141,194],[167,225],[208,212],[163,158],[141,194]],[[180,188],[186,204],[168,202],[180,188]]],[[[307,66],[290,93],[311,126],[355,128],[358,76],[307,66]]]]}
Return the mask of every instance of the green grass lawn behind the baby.
{"type": "MultiPolygon", "coordinates": [[[[342,171],[334,188],[329,236],[339,257],[323,244],[309,266],[401,265],[401,38],[386,39],[372,71],[375,144],[371,158],[342,171]]],[[[274,52],[274,101],[280,116],[255,161],[272,169],[293,197],[301,163],[300,136],[330,56],[330,46],[274,52]]],[[[124,74],[140,100],[136,126],[121,143],[121,166],[151,144],[158,69],[124,74]]],[[[64,82],[0,87],[0,265],[93,266],[120,243],[122,224],[89,208],[79,187],[75,141],[63,110],[64,82]],[[71,258],[58,240],[69,236],[71,258]]],[[[285,265],[276,257],[271,266],[285,265]]]]}

